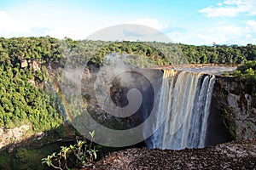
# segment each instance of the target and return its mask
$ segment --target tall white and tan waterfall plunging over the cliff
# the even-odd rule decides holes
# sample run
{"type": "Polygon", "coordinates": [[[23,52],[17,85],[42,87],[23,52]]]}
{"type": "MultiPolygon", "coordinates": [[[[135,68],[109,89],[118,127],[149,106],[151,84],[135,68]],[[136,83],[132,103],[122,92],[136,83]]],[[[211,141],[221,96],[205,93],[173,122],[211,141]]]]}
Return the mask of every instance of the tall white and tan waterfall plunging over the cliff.
{"type": "Polygon", "coordinates": [[[148,148],[181,150],[205,146],[214,80],[214,76],[195,72],[164,71],[155,122],[145,128],[162,124],[146,140],[148,148]]]}

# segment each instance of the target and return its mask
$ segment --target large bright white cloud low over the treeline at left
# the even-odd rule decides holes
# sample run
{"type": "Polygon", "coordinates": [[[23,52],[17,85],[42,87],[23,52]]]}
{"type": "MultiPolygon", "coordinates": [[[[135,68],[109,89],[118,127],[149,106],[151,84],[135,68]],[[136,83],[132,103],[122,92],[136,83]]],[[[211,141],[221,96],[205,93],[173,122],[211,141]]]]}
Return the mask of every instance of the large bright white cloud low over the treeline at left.
{"type": "Polygon", "coordinates": [[[0,37],[50,36],[84,39],[90,33],[105,25],[102,22],[94,24],[95,20],[93,19],[86,20],[84,18],[85,22],[78,17],[70,16],[68,18],[67,15],[62,13],[56,15],[51,11],[51,8],[48,8],[49,13],[47,14],[42,11],[37,12],[37,9],[28,10],[27,8],[30,7],[19,8],[13,13],[0,11],[0,37]],[[32,11],[32,14],[24,11],[32,11]]]}

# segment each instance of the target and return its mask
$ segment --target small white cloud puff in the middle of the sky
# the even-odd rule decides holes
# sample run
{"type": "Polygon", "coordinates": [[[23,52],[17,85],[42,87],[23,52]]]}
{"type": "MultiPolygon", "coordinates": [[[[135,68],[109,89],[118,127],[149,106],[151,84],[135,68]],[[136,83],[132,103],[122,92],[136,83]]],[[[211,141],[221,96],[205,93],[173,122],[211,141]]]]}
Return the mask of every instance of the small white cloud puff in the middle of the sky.
{"type": "Polygon", "coordinates": [[[166,26],[162,25],[159,20],[151,19],[151,18],[131,20],[127,24],[137,24],[137,25],[149,26],[156,30],[162,30],[162,29],[166,28],[166,26]]]}

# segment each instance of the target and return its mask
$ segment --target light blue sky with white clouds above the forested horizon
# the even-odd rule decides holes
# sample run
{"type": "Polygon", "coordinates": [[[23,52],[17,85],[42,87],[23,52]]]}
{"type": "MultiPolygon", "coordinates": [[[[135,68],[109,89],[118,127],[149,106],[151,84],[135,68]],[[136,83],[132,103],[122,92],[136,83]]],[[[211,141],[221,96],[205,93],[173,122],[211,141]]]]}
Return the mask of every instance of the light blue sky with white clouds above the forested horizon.
{"type": "Polygon", "coordinates": [[[256,44],[256,0],[0,0],[0,37],[81,40],[120,24],[185,44],[256,44]]]}

